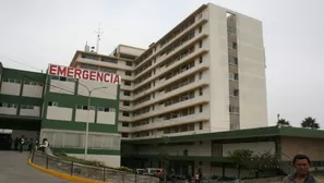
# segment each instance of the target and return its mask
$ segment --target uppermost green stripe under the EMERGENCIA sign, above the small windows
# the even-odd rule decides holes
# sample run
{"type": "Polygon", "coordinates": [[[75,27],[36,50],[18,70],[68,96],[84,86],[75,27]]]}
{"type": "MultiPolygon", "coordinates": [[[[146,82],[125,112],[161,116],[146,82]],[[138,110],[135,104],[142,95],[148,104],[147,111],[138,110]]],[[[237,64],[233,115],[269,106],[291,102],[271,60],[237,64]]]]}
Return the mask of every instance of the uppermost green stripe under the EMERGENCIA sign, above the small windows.
{"type": "MultiPolygon", "coordinates": [[[[87,106],[87,96],[74,96],[69,94],[48,93],[44,99],[46,102],[57,101],[59,107],[74,108],[77,105],[87,106]]],[[[93,98],[91,99],[91,106],[107,107],[118,109],[118,100],[93,98]]]]}

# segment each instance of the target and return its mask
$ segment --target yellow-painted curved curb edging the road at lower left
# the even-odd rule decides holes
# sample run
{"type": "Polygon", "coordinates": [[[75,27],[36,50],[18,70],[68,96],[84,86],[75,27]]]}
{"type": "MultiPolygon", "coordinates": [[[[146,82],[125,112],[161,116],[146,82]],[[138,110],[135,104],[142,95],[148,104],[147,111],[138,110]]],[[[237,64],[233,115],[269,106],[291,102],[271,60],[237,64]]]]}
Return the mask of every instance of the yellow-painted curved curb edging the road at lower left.
{"type": "Polygon", "coordinates": [[[85,179],[85,178],[80,178],[80,176],[73,176],[67,173],[61,173],[61,172],[57,172],[50,169],[46,169],[44,167],[34,164],[31,160],[31,158],[28,158],[28,164],[34,167],[37,170],[40,170],[45,173],[51,174],[53,176],[58,176],[68,181],[73,181],[73,182],[81,182],[81,183],[112,183],[112,182],[103,182],[103,181],[96,181],[96,180],[91,180],[91,179],[85,179]]]}

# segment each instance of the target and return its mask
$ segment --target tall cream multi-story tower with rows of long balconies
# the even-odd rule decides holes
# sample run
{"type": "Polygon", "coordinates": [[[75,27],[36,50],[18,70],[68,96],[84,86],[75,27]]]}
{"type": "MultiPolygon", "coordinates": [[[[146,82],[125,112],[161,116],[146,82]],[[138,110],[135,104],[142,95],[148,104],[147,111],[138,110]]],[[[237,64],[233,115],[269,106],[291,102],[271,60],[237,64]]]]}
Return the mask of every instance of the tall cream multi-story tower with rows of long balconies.
{"type": "Polygon", "coordinates": [[[81,51],[71,63],[125,74],[121,89],[129,96],[121,94],[119,124],[123,137],[267,126],[260,21],[208,3],[147,50],[128,49],[135,56],[131,60],[121,58],[124,47],[116,49],[113,63],[103,60],[108,56],[81,51]]]}

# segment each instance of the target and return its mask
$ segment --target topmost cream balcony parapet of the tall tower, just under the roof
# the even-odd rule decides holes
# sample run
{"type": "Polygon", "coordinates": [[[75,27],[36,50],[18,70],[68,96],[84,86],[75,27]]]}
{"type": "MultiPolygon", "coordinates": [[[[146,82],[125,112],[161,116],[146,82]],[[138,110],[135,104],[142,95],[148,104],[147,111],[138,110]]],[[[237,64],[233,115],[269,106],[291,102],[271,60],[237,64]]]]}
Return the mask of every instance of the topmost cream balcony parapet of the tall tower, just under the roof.
{"type": "MultiPolygon", "coordinates": [[[[157,54],[159,54],[163,50],[165,50],[168,46],[170,46],[172,42],[177,41],[178,39],[182,38],[183,35],[185,35],[187,33],[189,33],[190,30],[203,25],[204,23],[207,22],[207,17],[203,16],[201,20],[196,21],[195,23],[193,23],[191,26],[189,26],[187,29],[184,29],[182,33],[180,33],[178,36],[176,36],[171,41],[169,41],[168,44],[164,45],[163,47],[160,47],[160,49],[158,51],[156,51],[155,53],[151,54],[148,58],[146,58],[144,61],[142,61],[136,68],[140,68],[141,65],[143,65],[147,60],[156,57],[157,54]]],[[[145,72],[145,71],[144,71],[145,72]]],[[[137,78],[139,75],[136,75],[135,78],[137,78]]]]}

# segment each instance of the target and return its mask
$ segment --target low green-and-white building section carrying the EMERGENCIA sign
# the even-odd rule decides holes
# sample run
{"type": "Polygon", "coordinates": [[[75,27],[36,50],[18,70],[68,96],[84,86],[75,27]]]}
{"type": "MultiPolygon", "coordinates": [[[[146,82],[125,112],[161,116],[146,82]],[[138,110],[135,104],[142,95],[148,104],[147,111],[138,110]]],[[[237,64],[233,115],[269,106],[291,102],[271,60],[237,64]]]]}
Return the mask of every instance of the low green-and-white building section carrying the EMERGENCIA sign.
{"type": "Polygon", "coordinates": [[[0,75],[0,127],[13,138],[47,138],[53,151],[83,158],[88,123],[86,158],[120,164],[118,75],[52,64],[47,73],[1,65],[0,75]]]}

